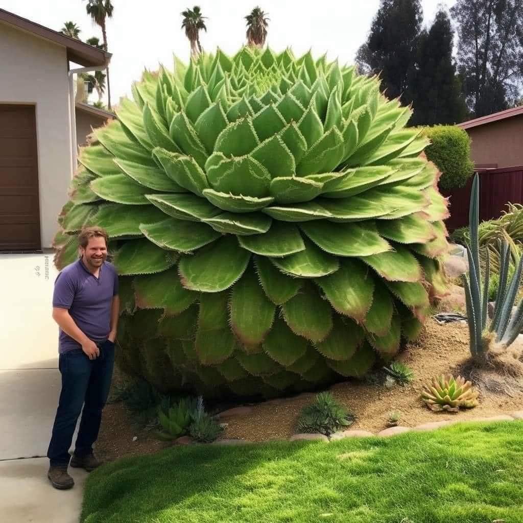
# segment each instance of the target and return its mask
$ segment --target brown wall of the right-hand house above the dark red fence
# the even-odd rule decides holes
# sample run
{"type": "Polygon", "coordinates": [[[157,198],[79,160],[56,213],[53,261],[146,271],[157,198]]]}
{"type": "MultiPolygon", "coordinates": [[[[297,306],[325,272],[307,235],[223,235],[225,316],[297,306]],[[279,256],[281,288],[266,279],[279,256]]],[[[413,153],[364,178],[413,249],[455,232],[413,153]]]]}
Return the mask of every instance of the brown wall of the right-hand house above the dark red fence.
{"type": "Polygon", "coordinates": [[[476,165],[523,165],[523,115],[465,130],[472,139],[471,155],[476,165]]]}

